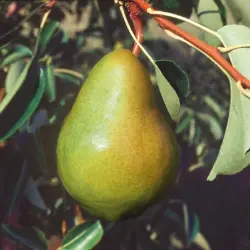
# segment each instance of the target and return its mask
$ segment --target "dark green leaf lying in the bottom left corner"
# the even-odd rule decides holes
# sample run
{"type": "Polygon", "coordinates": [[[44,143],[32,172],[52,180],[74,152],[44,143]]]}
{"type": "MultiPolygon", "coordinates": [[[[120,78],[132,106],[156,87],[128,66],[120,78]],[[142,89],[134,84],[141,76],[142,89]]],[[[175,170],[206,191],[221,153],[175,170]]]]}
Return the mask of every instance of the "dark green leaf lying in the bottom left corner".
{"type": "Polygon", "coordinates": [[[27,249],[47,250],[47,243],[41,239],[41,234],[33,228],[18,228],[8,224],[2,224],[2,232],[4,235],[21,243],[27,249]]]}

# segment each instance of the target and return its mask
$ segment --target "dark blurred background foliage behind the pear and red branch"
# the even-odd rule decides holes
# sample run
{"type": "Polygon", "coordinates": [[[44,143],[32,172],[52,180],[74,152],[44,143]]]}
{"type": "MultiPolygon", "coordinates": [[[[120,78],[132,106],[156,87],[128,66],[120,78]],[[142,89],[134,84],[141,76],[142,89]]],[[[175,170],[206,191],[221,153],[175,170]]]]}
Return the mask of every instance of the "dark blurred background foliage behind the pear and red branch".
{"type": "MultiPolygon", "coordinates": [[[[182,166],[171,197],[139,218],[113,224],[93,218],[68,196],[56,173],[55,143],[62,121],[93,65],[115,48],[131,48],[133,40],[112,0],[57,1],[39,33],[43,2],[0,2],[1,249],[57,249],[70,229],[63,249],[85,246],[81,244],[97,250],[250,249],[250,170],[206,181],[227,123],[228,80],[216,65],[168,37],[147,15],[142,17],[145,48],[155,60],[174,61],[190,82],[175,128],[182,166]],[[80,242],[74,240],[78,234],[80,242]]],[[[231,23],[250,27],[240,1],[149,2],[213,30],[231,23]]],[[[189,24],[172,21],[219,45],[189,24]]],[[[143,54],[140,59],[165,112],[154,69],[143,54]]]]}

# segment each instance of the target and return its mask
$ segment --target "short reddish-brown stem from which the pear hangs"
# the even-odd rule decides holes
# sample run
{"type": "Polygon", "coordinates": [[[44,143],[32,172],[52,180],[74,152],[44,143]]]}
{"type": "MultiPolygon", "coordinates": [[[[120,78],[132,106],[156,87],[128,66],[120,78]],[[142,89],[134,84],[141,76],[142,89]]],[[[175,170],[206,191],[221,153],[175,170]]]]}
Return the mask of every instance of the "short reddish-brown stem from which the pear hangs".
{"type": "MultiPolygon", "coordinates": [[[[143,42],[143,27],[141,21],[141,10],[134,2],[127,2],[125,5],[128,9],[129,16],[134,25],[135,36],[139,43],[143,42]]],[[[140,53],[140,47],[137,43],[134,43],[134,47],[132,49],[134,55],[138,56],[140,53]]]]}

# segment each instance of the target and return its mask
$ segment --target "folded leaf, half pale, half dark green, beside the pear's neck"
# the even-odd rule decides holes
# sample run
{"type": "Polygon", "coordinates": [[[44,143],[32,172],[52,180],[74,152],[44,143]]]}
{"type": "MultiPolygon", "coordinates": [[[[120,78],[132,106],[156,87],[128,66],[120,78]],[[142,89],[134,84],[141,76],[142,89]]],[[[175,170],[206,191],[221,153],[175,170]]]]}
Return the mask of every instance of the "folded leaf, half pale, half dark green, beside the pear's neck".
{"type": "Polygon", "coordinates": [[[185,73],[172,61],[156,61],[155,71],[165,106],[171,119],[177,122],[179,120],[180,99],[184,98],[189,91],[188,79],[185,73]]]}

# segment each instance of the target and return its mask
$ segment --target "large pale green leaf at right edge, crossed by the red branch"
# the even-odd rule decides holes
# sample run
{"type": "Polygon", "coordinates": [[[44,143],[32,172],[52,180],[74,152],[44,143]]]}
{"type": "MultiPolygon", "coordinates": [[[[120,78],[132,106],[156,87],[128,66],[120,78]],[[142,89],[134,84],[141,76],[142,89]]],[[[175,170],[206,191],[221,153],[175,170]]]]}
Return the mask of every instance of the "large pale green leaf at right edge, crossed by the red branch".
{"type": "MultiPolygon", "coordinates": [[[[218,30],[225,46],[247,44],[250,41],[250,29],[242,25],[227,25],[218,30]]],[[[229,53],[233,66],[250,79],[248,62],[250,49],[237,49],[229,53]]],[[[216,162],[207,177],[212,181],[218,174],[236,174],[250,164],[250,99],[237,88],[230,78],[231,100],[229,117],[224,139],[216,162]]]]}

